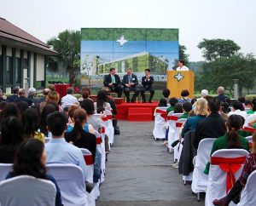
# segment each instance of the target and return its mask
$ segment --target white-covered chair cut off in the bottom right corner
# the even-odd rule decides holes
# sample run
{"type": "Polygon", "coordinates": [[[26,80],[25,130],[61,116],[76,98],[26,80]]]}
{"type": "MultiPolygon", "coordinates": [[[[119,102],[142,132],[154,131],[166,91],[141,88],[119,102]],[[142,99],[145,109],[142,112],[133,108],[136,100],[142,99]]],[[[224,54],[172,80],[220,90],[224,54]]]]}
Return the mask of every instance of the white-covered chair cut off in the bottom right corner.
{"type": "Polygon", "coordinates": [[[249,175],[247,179],[247,184],[241,192],[240,203],[237,206],[255,206],[256,203],[256,170],[253,171],[251,175],[249,175]]]}

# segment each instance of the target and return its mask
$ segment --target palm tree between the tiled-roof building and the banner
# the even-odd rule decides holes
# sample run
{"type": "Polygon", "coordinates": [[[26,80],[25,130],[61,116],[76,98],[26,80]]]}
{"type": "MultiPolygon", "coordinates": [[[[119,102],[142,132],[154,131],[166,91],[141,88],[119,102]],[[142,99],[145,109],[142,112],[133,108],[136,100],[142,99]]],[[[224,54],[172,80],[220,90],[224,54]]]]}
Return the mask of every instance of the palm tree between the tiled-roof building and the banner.
{"type": "Polygon", "coordinates": [[[66,30],[60,32],[58,37],[52,37],[47,41],[59,53],[58,63],[66,68],[71,85],[75,83],[80,69],[80,39],[80,31],[66,30]]]}

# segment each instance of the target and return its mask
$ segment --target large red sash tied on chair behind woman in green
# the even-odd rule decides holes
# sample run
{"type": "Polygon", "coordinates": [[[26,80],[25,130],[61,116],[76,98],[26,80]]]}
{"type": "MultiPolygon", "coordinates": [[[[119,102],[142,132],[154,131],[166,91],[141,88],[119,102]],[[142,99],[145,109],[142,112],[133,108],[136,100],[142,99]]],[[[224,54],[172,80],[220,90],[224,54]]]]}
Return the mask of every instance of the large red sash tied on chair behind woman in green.
{"type": "Polygon", "coordinates": [[[211,164],[218,165],[220,169],[222,169],[227,174],[226,181],[226,192],[228,193],[231,187],[236,182],[235,174],[238,169],[241,168],[241,164],[243,164],[246,160],[246,157],[235,157],[235,158],[227,158],[227,157],[211,157],[211,164]]]}

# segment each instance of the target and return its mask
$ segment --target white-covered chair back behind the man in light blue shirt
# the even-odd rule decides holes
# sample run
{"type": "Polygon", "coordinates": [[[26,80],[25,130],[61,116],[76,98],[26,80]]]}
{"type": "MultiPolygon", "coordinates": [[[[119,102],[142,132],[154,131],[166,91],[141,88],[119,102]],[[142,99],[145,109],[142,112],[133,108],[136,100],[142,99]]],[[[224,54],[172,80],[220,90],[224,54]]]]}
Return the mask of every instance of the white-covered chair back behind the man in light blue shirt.
{"type": "Polygon", "coordinates": [[[74,164],[49,163],[48,174],[52,175],[61,190],[64,205],[88,206],[83,170],[74,164]]]}

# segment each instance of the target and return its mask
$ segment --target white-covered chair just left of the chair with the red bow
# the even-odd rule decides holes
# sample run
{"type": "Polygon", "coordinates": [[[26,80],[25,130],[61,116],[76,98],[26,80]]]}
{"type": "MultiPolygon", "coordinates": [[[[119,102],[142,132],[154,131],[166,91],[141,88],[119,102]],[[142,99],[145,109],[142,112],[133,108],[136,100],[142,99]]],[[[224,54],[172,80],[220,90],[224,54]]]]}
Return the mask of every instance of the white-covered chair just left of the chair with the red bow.
{"type": "Polygon", "coordinates": [[[194,193],[197,193],[198,201],[200,201],[200,192],[206,192],[207,190],[208,175],[204,174],[204,169],[210,161],[212,145],[215,140],[215,138],[203,139],[200,141],[197,149],[191,189],[194,193]]]}

